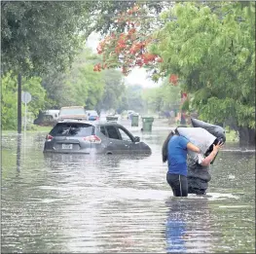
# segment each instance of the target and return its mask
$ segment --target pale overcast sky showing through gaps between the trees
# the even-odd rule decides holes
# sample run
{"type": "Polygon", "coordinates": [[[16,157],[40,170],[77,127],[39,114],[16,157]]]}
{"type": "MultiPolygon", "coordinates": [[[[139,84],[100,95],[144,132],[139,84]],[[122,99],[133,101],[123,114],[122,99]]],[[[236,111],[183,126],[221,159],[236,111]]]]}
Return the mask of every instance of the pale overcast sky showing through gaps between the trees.
{"type": "MultiPolygon", "coordinates": [[[[96,47],[99,43],[99,35],[96,33],[91,33],[88,38],[87,46],[96,53],[96,47]]],[[[127,85],[140,85],[143,88],[156,88],[159,84],[154,83],[150,79],[147,79],[147,73],[144,68],[135,68],[133,69],[127,77],[125,77],[125,83],[127,85]]]]}

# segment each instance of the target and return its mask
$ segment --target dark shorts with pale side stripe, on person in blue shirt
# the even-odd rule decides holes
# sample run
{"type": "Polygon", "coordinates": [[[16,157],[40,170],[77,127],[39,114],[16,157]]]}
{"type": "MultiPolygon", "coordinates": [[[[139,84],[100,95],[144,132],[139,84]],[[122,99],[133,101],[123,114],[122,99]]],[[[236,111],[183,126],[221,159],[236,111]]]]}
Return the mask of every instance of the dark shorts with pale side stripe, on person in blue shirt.
{"type": "Polygon", "coordinates": [[[172,189],[175,197],[188,196],[188,180],[187,176],[181,174],[166,174],[166,180],[172,189]]]}

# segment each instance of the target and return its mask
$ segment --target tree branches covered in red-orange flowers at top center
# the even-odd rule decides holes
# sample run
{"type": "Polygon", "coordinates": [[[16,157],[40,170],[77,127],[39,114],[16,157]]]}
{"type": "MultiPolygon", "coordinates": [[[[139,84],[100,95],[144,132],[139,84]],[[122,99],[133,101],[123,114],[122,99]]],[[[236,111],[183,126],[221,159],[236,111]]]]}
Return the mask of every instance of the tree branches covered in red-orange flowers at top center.
{"type": "MultiPolygon", "coordinates": [[[[157,64],[163,62],[163,58],[158,54],[149,53],[147,49],[147,46],[154,42],[152,31],[148,29],[151,18],[142,18],[147,15],[145,9],[134,5],[118,16],[116,22],[125,23],[126,32],[114,31],[99,43],[97,53],[102,54],[102,62],[94,66],[94,71],[121,68],[127,76],[134,67],[146,67],[153,70],[153,80],[160,77],[154,69],[157,64]]],[[[177,79],[172,83],[176,85],[176,82],[177,79]]]]}

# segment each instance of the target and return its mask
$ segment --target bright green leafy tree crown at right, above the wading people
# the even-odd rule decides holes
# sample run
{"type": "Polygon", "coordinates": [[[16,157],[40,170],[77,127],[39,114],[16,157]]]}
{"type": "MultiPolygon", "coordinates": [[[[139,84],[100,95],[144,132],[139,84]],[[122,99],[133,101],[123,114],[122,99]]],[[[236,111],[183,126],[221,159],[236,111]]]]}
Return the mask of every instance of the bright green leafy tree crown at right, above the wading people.
{"type": "MultiPolygon", "coordinates": [[[[165,19],[165,26],[155,35],[158,45],[150,50],[164,59],[159,70],[184,80],[182,89],[194,93],[190,106],[204,120],[234,118],[238,126],[252,127],[255,18],[251,11],[255,3],[245,9],[239,3],[214,6],[216,13],[199,3],[176,4],[172,19],[165,19]]],[[[166,11],[163,18],[169,14],[166,11]]]]}

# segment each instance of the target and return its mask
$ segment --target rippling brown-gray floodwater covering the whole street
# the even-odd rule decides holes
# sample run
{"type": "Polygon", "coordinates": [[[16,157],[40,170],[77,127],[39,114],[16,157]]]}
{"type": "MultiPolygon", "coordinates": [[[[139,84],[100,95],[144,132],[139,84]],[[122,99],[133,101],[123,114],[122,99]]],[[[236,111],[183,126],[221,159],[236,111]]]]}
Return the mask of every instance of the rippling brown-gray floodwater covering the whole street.
{"type": "MultiPolygon", "coordinates": [[[[124,123],[128,124],[128,123],[124,123]]],[[[129,127],[152,155],[42,153],[47,133],[2,135],[2,253],[255,253],[255,153],[227,143],[205,197],[172,197],[169,127],[129,127]]]]}

